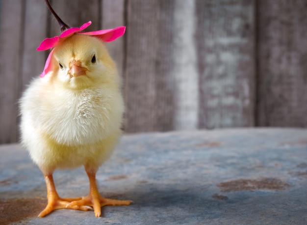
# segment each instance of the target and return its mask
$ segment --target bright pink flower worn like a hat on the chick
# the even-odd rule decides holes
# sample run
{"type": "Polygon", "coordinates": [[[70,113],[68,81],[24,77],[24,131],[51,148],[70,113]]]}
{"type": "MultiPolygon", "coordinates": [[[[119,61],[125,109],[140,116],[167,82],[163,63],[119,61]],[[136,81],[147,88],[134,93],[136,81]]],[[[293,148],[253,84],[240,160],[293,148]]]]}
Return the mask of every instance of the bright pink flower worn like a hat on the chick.
{"type": "MultiPolygon", "coordinates": [[[[118,37],[122,36],[125,33],[126,27],[118,27],[114,29],[102,29],[102,30],[95,30],[90,32],[80,32],[90,26],[92,24],[91,21],[83,24],[80,28],[69,28],[65,31],[63,31],[60,36],[55,36],[51,38],[46,38],[36,49],[36,51],[44,51],[53,48],[57,45],[59,41],[65,40],[66,38],[72,36],[74,33],[80,33],[84,35],[90,35],[90,36],[96,36],[97,38],[101,39],[105,42],[114,41],[118,37]]],[[[50,52],[46,63],[44,67],[43,73],[40,75],[40,77],[44,77],[48,72],[51,71],[51,56],[52,56],[53,50],[50,52]]]]}

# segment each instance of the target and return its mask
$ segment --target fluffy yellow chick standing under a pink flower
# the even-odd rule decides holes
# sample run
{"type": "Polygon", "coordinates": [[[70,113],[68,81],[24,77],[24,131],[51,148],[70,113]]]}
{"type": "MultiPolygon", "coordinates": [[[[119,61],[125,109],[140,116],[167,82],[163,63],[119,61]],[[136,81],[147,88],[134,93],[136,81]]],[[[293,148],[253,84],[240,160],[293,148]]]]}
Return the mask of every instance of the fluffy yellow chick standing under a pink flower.
{"type": "Polygon", "coordinates": [[[39,217],[55,209],[92,207],[100,217],[102,206],[131,203],[102,197],[96,185],[97,170],[122,134],[121,78],[96,37],[74,33],[52,51],[50,72],[34,79],[20,100],[21,141],[47,185],[48,205],[39,217]],[[59,197],[53,171],[79,166],[88,175],[89,195],[59,197]]]}

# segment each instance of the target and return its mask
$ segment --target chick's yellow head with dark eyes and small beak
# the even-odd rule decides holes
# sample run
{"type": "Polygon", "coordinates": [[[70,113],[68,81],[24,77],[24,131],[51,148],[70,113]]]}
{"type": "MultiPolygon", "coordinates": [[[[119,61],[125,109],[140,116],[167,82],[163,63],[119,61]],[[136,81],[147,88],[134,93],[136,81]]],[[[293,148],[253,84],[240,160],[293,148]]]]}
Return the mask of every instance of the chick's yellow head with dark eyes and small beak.
{"type": "Polygon", "coordinates": [[[114,61],[96,37],[75,33],[53,50],[52,77],[67,88],[119,83],[114,61]]]}

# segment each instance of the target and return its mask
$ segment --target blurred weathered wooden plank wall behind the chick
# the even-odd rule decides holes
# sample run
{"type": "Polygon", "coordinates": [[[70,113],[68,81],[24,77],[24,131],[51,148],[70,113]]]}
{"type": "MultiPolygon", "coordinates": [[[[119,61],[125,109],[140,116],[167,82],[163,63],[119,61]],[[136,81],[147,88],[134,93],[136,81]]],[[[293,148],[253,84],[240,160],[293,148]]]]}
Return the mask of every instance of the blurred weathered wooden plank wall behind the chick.
{"type": "MultiPolygon", "coordinates": [[[[107,43],[124,78],[125,131],[307,127],[307,0],[51,0],[64,22],[127,26],[107,43]]],[[[59,34],[44,0],[0,0],[0,143],[59,34]]]]}

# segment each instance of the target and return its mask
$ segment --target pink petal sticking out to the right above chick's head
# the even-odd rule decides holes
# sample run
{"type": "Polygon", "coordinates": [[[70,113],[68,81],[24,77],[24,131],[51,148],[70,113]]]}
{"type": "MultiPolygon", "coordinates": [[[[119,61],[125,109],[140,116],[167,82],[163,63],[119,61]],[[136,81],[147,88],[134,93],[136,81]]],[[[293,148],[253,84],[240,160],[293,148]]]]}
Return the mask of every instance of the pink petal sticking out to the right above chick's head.
{"type": "Polygon", "coordinates": [[[118,27],[114,29],[102,29],[102,30],[84,32],[80,34],[95,36],[105,42],[110,42],[122,36],[125,33],[125,30],[126,27],[118,27]]]}

